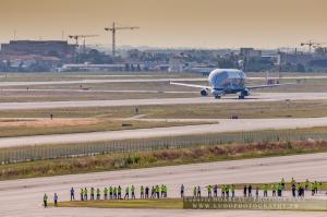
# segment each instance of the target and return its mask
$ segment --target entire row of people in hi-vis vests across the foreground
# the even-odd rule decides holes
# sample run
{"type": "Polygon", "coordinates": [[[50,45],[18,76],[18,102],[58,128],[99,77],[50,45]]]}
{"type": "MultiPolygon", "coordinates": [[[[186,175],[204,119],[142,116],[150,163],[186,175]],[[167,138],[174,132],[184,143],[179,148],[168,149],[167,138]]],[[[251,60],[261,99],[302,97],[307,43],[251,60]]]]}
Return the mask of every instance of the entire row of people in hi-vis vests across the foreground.
{"type": "MultiPolygon", "coordinates": [[[[292,178],[290,181],[290,191],[293,197],[303,197],[305,191],[311,191],[312,195],[318,193],[318,189],[322,189],[323,183],[317,181],[308,181],[305,182],[295,182],[292,178]]],[[[235,184],[209,184],[203,188],[207,192],[208,197],[218,197],[220,192],[221,197],[234,197],[235,196],[235,184]]],[[[245,184],[243,188],[243,196],[252,197],[253,193],[255,196],[264,196],[267,197],[268,193],[271,192],[271,196],[282,196],[283,192],[287,190],[287,184],[284,179],[282,178],[279,183],[272,184],[245,184]],[[262,195],[261,191],[262,190],[262,195]]],[[[202,197],[202,188],[199,185],[193,186],[193,197],[202,197]]],[[[75,201],[75,190],[71,188],[70,190],[71,201],[75,201]]],[[[166,198],[168,196],[167,185],[153,185],[153,186],[140,186],[140,198],[166,198]]],[[[185,196],[185,186],[184,184],[180,188],[180,196],[183,198],[185,196]]],[[[136,198],[136,189],[134,185],[125,186],[124,191],[121,185],[118,186],[109,186],[104,189],[95,189],[90,188],[82,188],[80,191],[81,201],[94,201],[94,200],[135,200],[136,198]]],[[[55,206],[58,206],[58,194],[53,194],[55,206]]],[[[44,195],[44,206],[48,206],[48,195],[44,195]]]]}

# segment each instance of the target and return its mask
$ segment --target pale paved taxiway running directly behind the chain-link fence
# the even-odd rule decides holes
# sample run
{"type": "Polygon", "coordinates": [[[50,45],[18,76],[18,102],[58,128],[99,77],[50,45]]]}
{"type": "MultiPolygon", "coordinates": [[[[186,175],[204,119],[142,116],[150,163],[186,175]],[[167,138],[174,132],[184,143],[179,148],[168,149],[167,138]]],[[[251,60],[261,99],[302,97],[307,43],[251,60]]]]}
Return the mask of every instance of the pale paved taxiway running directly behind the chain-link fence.
{"type": "Polygon", "coordinates": [[[14,147],[44,144],[68,144],[78,142],[99,142],[117,140],[135,140],[160,136],[194,135],[219,132],[239,132],[257,130],[280,130],[296,128],[327,126],[325,118],[298,119],[217,119],[219,123],[183,125],[169,128],[136,129],[73,134],[35,135],[0,138],[0,147],[14,147]]]}

